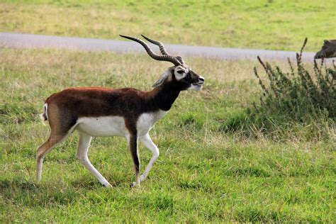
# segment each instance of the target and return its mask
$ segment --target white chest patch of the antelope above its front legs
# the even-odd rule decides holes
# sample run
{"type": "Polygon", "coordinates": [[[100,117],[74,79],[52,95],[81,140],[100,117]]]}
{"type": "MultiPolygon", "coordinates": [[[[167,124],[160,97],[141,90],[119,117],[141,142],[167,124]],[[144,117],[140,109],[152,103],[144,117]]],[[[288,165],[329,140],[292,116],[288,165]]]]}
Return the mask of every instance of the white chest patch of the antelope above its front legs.
{"type": "Polygon", "coordinates": [[[137,129],[138,135],[143,136],[146,135],[150,129],[154,126],[154,124],[159,121],[163,116],[165,116],[167,111],[157,111],[154,113],[142,113],[142,115],[138,118],[137,129]]]}

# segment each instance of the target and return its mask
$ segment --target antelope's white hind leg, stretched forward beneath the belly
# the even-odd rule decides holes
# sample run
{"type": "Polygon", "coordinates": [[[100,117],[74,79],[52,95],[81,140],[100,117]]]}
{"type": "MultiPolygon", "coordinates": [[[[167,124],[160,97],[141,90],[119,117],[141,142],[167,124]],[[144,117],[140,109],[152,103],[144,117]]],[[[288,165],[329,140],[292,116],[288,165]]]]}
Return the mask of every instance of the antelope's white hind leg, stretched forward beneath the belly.
{"type": "Polygon", "coordinates": [[[77,159],[81,162],[86,169],[89,169],[91,174],[94,174],[94,177],[103,184],[103,186],[111,186],[110,183],[94,168],[94,166],[89,161],[89,157],[87,156],[87,151],[89,150],[90,142],[92,137],[85,133],[79,132],[79,143],[77,148],[77,159]]]}

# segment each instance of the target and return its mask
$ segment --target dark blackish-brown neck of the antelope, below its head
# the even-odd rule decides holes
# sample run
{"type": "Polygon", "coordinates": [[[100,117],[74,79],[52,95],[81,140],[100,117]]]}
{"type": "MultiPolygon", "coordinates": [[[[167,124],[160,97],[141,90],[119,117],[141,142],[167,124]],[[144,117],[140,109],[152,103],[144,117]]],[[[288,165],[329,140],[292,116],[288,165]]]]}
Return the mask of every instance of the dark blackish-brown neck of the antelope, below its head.
{"type": "Polygon", "coordinates": [[[152,91],[147,92],[148,103],[159,110],[169,111],[177,96],[179,96],[179,92],[179,89],[169,84],[162,84],[162,86],[157,86],[152,91]]]}

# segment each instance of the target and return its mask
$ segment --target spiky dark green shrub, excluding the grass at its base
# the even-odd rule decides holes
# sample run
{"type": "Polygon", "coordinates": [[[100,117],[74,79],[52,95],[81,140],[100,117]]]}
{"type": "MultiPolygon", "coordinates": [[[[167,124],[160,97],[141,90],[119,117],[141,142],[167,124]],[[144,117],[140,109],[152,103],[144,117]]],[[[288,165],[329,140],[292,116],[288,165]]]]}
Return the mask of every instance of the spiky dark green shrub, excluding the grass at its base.
{"type": "Polygon", "coordinates": [[[291,121],[298,122],[303,122],[306,115],[319,116],[321,112],[329,118],[336,118],[335,65],[333,69],[323,69],[324,60],[321,60],[320,67],[314,61],[313,73],[308,72],[301,60],[306,43],[307,38],[300,54],[296,54],[296,70],[288,60],[291,72],[283,72],[277,66],[271,67],[258,57],[269,78],[269,87],[264,85],[254,67],[254,74],[263,91],[260,106],[254,104],[255,111],[281,113],[291,121]]]}

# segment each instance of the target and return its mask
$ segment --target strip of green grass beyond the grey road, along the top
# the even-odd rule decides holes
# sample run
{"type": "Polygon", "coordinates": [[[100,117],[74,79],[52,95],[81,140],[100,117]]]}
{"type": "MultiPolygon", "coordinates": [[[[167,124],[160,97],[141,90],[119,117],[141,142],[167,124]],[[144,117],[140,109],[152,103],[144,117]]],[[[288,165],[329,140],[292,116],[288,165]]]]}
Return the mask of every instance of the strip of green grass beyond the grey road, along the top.
{"type": "Polygon", "coordinates": [[[323,1],[1,1],[0,31],[308,51],[336,36],[336,3],[323,1]]]}

